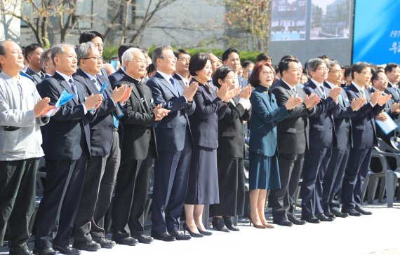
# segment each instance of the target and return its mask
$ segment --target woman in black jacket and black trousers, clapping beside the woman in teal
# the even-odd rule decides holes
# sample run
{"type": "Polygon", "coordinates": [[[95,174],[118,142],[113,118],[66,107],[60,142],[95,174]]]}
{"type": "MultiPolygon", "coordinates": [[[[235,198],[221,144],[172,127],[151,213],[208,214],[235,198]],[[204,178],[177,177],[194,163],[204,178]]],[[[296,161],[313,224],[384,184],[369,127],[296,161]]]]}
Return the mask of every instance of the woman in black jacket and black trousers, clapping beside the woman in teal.
{"type": "MultiPolygon", "coordinates": [[[[235,88],[235,74],[231,67],[219,67],[213,76],[213,84],[220,88],[227,84],[235,88]]],[[[239,231],[230,216],[244,212],[244,130],[243,122],[251,115],[251,86],[229,100],[229,107],[218,121],[218,186],[220,203],[211,205],[214,215],[213,228],[219,231],[239,231]]]]}

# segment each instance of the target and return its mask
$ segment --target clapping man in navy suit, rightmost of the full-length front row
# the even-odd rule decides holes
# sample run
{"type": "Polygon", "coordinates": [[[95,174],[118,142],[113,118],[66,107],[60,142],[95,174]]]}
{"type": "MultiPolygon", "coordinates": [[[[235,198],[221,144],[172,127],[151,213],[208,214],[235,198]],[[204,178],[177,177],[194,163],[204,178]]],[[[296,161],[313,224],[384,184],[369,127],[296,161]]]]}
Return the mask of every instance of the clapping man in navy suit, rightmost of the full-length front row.
{"type": "Polygon", "coordinates": [[[364,97],[366,104],[352,118],[353,145],[350,149],[349,162],[345,170],[342,184],[342,212],[352,216],[369,215],[371,212],[361,208],[361,192],[364,179],[371,161],[373,146],[378,146],[375,129],[375,116],[385,108],[390,95],[382,96],[382,92],[369,94],[366,88],[371,81],[371,66],[366,62],[356,62],[352,66],[352,84],[347,87],[347,97],[352,101],[356,97],[364,97]]]}

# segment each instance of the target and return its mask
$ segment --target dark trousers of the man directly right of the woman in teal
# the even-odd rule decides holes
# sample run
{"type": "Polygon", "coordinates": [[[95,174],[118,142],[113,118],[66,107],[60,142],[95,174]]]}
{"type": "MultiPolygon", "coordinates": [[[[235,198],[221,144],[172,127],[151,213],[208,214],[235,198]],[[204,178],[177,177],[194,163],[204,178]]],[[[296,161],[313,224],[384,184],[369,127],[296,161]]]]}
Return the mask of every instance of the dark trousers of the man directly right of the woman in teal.
{"type": "Polygon", "coordinates": [[[304,153],[279,153],[278,164],[281,188],[272,189],[269,196],[274,221],[293,219],[295,217],[295,201],[293,197],[298,188],[303,160],[304,153]]]}

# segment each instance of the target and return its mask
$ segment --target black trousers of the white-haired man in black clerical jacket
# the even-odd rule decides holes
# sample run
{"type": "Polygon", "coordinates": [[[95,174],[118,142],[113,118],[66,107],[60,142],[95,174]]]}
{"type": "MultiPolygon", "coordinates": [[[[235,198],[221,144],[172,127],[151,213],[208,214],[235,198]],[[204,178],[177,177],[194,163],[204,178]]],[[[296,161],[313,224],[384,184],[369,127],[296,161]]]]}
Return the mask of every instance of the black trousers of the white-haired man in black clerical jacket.
{"type": "Polygon", "coordinates": [[[153,158],[150,148],[144,160],[121,160],[112,205],[112,237],[115,240],[143,233],[142,214],[145,212],[153,158]],[[125,229],[126,225],[130,232],[125,229]]]}

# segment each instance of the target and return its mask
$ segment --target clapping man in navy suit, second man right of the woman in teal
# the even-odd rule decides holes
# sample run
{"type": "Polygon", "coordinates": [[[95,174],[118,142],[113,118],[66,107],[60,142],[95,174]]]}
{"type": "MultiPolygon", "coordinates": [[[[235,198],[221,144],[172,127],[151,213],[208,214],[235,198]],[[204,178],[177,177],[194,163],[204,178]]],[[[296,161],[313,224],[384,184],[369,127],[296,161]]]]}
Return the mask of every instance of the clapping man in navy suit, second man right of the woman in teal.
{"type": "Polygon", "coordinates": [[[338,97],[342,88],[331,90],[324,87],[329,69],[321,58],[307,62],[311,78],[305,84],[307,95],[316,94],[321,97],[315,113],[309,117],[309,149],[305,153],[302,177],[302,219],[309,223],[333,221],[327,217],[322,208],[322,181],[331,160],[332,146],[336,143],[333,113],[338,111],[338,97]]]}

